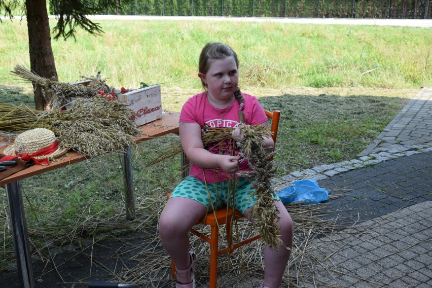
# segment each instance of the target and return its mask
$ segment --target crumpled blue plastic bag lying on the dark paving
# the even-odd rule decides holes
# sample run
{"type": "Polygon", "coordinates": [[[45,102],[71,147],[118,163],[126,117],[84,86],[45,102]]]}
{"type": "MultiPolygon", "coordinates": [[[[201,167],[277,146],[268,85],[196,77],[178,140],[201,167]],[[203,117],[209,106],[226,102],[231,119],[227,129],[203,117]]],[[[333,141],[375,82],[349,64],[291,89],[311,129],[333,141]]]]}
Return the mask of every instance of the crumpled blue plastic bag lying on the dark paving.
{"type": "Polygon", "coordinates": [[[310,205],[329,200],[329,191],[320,188],[315,179],[296,180],[277,192],[283,204],[300,202],[310,205]]]}

